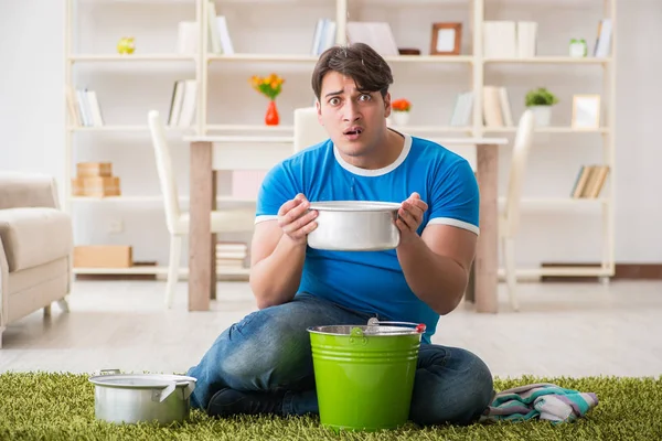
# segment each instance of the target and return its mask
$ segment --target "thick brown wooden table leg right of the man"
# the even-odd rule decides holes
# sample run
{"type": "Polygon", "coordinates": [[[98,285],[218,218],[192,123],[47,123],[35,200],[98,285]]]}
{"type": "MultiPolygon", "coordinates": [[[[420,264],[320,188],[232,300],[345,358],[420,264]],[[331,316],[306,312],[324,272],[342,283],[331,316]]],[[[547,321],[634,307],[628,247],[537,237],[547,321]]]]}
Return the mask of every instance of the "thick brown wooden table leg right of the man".
{"type": "Polygon", "coordinates": [[[499,265],[499,146],[478,146],[480,237],[476,252],[476,311],[498,311],[499,265]]]}

